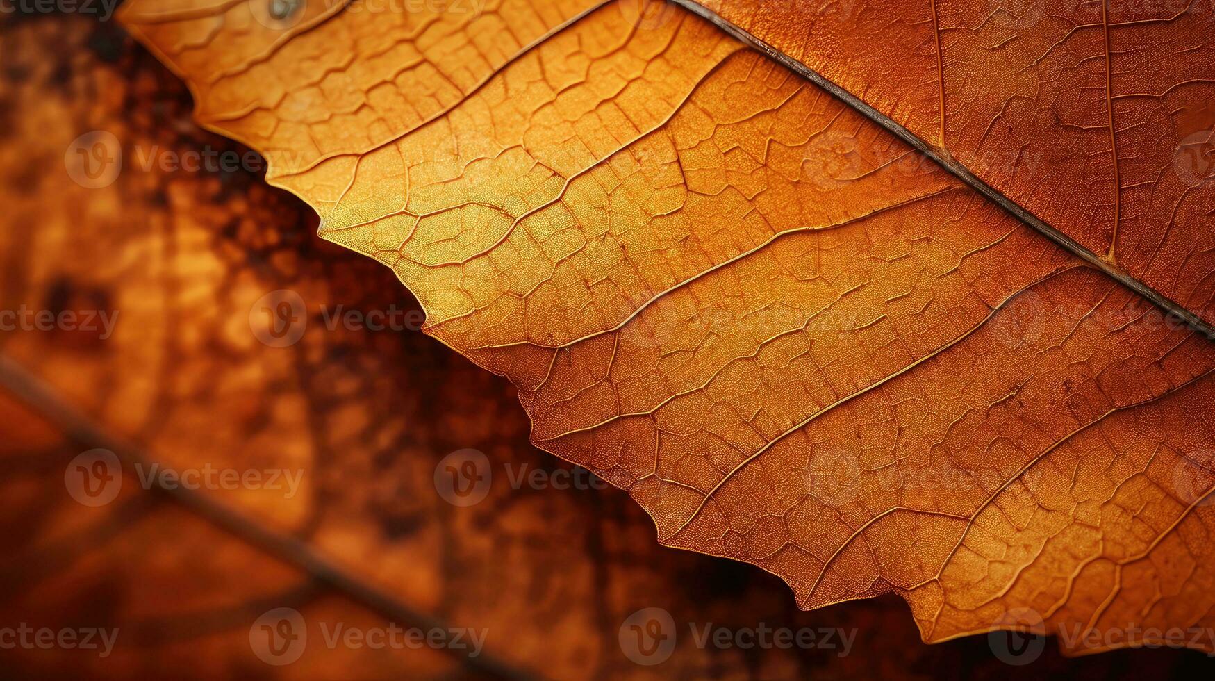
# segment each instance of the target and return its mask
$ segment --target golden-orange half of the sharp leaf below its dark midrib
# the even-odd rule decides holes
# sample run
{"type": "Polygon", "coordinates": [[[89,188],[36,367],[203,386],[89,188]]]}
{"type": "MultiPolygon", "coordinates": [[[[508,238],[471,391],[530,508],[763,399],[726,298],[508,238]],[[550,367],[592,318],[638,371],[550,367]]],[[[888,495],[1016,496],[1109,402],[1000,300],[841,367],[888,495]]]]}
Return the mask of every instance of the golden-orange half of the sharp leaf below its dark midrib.
{"type": "Polygon", "coordinates": [[[708,22],[546,2],[433,34],[356,2],[230,49],[250,10],[152,5],[125,6],[136,35],[196,91],[228,83],[200,123],[267,151],[665,544],[803,608],[898,592],[928,641],[1215,625],[1215,344],[708,22]],[[373,41],[467,78],[406,88],[373,41]]]}

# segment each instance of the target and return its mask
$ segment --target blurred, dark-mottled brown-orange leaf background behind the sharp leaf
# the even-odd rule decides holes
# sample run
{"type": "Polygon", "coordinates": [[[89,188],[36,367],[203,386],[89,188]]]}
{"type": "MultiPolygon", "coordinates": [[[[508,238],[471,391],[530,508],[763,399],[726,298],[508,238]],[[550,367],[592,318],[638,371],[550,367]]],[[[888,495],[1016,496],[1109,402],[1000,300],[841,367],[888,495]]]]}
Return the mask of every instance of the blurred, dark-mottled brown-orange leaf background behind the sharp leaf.
{"type": "Polygon", "coordinates": [[[759,569],[660,547],[527,443],[504,379],[417,331],[390,270],[197,128],[112,10],[0,0],[5,677],[1209,671],[926,646],[893,596],[804,613],[759,569]]]}

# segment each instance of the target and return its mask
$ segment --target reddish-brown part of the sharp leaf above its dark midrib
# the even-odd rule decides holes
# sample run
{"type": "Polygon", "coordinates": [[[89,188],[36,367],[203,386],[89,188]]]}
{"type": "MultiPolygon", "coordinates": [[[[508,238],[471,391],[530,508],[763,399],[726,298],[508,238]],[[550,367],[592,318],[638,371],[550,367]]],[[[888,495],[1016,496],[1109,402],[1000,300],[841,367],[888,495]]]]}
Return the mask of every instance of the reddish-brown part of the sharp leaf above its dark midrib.
{"type": "Polygon", "coordinates": [[[695,1],[1215,322],[1209,0],[695,1]]]}

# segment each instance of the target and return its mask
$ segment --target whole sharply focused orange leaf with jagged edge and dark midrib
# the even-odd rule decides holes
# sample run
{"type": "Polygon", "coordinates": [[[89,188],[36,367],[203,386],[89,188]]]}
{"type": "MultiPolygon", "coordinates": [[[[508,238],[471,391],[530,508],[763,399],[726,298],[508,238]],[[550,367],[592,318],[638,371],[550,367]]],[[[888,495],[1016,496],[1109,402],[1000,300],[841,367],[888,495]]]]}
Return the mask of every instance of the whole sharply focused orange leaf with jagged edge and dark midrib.
{"type": "Polygon", "coordinates": [[[123,21],[663,544],[927,641],[1215,624],[1209,16],[293,7],[123,21]]]}

